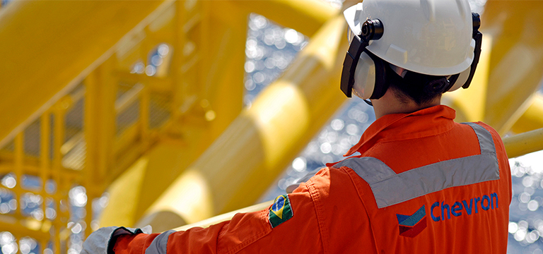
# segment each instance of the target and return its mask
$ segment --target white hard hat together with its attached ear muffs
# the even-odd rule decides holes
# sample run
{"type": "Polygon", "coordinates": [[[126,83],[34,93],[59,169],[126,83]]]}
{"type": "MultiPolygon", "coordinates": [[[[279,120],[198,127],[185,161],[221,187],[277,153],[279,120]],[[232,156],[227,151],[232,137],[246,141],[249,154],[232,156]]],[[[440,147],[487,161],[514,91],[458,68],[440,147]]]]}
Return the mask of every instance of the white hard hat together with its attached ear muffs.
{"type": "Polygon", "coordinates": [[[344,16],[349,39],[356,36],[356,45],[361,45],[356,49],[349,40],[341,77],[341,90],[348,97],[351,87],[363,99],[382,96],[387,87],[380,87],[378,75],[389,63],[396,72],[454,75],[449,91],[471,82],[481,34],[479,16],[472,16],[467,0],[365,0],[347,8],[344,16]],[[366,36],[368,23],[379,31],[375,38],[366,36]]]}

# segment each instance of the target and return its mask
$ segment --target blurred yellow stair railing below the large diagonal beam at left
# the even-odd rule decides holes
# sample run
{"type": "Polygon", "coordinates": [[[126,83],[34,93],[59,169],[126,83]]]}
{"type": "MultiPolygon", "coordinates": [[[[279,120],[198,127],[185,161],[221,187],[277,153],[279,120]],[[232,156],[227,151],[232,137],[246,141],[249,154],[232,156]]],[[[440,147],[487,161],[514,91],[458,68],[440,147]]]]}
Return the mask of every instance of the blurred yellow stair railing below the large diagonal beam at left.
{"type": "Polygon", "coordinates": [[[179,86],[168,73],[173,47],[160,40],[173,25],[150,32],[151,24],[117,44],[122,50],[1,147],[0,231],[18,240],[29,236],[45,253],[78,250],[98,226],[97,204],[107,186],[168,135],[181,99],[174,98],[179,86]],[[141,32],[146,39],[134,42],[141,32]],[[151,56],[160,63],[153,65],[151,56]],[[153,70],[142,73],[139,63],[153,70]]]}

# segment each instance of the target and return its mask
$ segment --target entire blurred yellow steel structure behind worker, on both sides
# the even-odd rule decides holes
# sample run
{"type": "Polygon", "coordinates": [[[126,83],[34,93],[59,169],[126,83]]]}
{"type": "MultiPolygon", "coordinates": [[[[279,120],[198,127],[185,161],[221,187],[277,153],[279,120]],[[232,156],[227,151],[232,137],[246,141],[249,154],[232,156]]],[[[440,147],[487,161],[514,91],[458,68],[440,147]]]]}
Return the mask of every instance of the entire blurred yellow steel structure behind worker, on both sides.
{"type": "MultiPolygon", "coordinates": [[[[76,250],[106,189],[103,226],[162,231],[252,205],[344,101],[338,13],[319,0],[0,6],[0,191],[17,201],[0,205],[0,231],[76,250]],[[252,12],[311,40],[243,111],[252,12]],[[28,198],[40,208],[25,212],[28,198]]],[[[487,3],[476,78],[449,97],[459,119],[543,127],[542,17],[543,2],[487,3]]],[[[510,156],[542,149],[541,133],[506,138],[510,156]]]]}

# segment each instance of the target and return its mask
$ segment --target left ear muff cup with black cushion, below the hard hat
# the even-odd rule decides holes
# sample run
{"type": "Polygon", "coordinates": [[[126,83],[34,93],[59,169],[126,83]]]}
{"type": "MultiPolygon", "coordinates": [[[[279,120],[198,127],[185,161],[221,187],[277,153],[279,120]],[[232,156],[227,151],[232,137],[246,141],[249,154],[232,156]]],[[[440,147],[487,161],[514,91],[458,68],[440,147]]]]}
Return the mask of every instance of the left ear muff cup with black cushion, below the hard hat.
{"type": "Polygon", "coordinates": [[[388,89],[383,59],[364,49],[354,73],[353,93],[361,99],[379,99],[388,89]]]}

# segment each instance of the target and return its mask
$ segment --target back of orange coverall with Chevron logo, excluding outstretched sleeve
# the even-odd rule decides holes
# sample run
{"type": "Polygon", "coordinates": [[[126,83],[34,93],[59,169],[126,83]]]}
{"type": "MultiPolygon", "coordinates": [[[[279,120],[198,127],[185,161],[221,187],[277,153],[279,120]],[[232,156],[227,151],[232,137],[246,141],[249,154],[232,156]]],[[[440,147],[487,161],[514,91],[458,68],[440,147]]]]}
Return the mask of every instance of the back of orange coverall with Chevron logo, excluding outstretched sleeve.
{"type": "Polygon", "coordinates": [[[322,188],[332,252],[505,253],[511,192],[503,144],[484,123],[452,118],[443,106],[384,116],[351,150],[361,156],[307,183],[322,188]]]}

